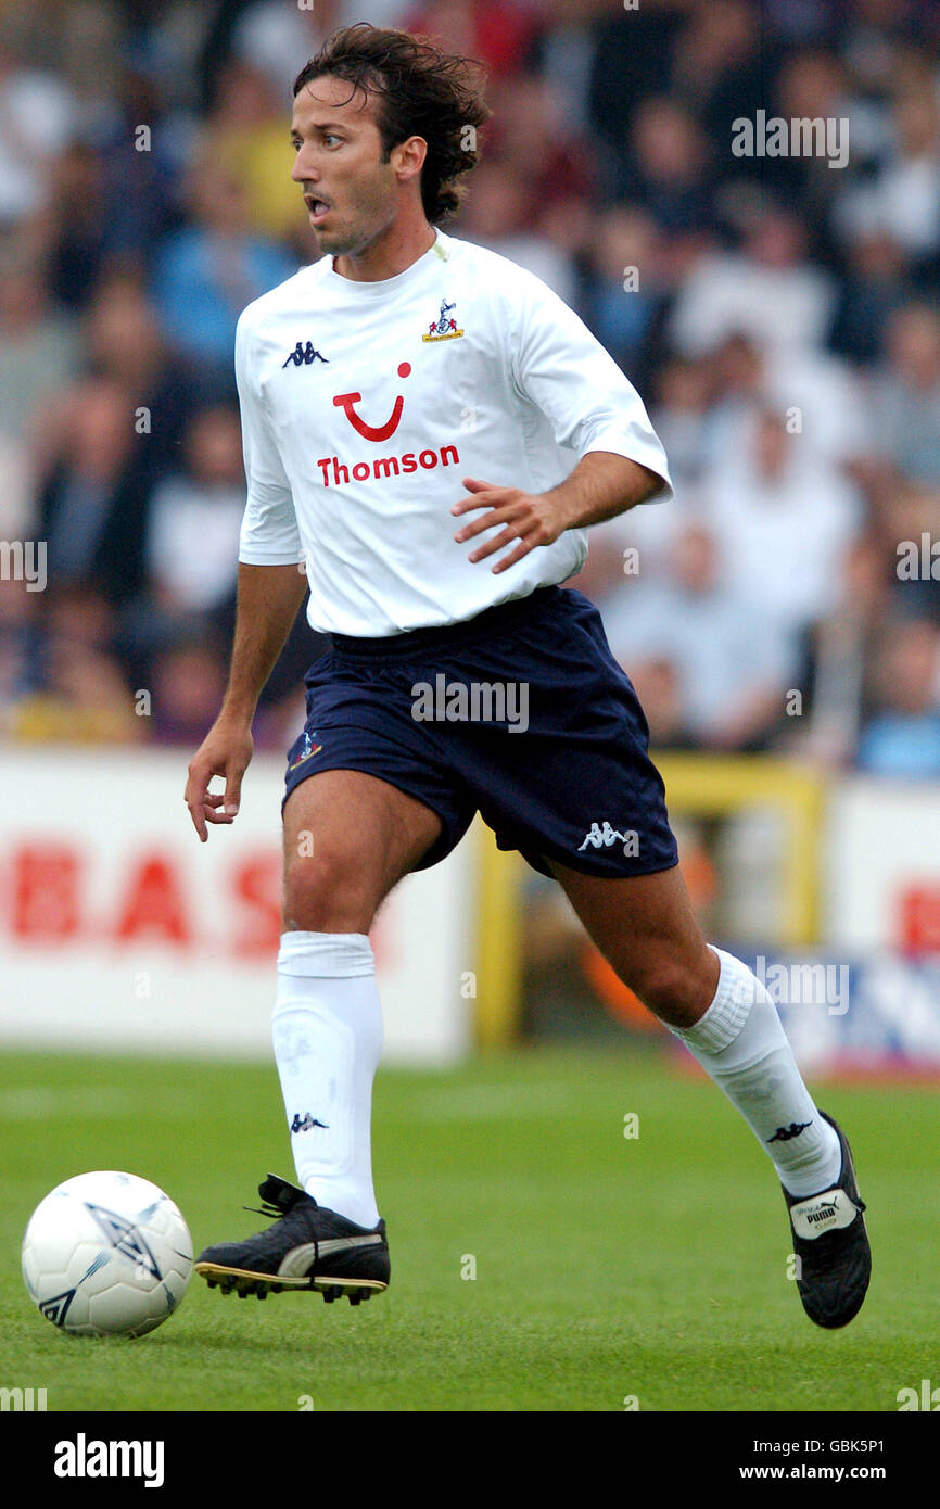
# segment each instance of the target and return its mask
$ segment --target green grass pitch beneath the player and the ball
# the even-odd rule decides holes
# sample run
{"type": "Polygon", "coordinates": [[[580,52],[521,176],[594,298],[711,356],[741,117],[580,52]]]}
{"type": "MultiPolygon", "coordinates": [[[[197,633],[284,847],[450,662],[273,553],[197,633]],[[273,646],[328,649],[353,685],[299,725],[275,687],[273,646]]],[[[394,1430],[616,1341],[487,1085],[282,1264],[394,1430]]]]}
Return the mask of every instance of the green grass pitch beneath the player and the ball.
{"type": "Polygon", "coordinates": [[[258,1180],[293,1177],[275,1070],[2,1055],[0,1384],[75,1411],[296,1411],[305,1394],[317,1411],[620,1411],[631,1394],[641,1411],[896,1411],[899,1388],[940,1382],[935,1096],[821,1100],[852,1138],[875,1248],[842,1332],[804,1317],[773,1169],[718,1091],[641,1055],[536,1050],[379,1076],[382,1298],[260,1305],[193,1280],[149,1337],[89,1342],[26,1295],[33,1207],[71,1174],[127,1168],[172,1195],[196,1249],[257,1230],[258,1180]]]}

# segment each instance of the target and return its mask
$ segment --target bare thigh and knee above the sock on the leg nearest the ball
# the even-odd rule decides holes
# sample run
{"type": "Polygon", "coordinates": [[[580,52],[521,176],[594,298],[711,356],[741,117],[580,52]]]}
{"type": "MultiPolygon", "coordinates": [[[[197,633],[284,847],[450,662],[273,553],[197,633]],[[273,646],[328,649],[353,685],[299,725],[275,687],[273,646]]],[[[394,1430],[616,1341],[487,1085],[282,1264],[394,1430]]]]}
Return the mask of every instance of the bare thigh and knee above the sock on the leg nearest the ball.
{"type": "Polygon", "coordinates": [[[368,933],[441,827],[436,812],[376,776],[309,776],[284,806],[285,931],[368,933]]]}

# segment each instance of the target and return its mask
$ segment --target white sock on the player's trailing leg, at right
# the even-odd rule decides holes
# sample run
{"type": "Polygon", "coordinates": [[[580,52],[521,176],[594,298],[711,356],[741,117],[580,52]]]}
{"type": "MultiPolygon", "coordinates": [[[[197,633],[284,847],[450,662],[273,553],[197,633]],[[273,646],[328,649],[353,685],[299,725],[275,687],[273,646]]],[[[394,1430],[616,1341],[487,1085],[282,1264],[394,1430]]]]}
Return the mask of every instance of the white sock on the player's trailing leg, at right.
{"type": "Polygon", "coordinates": [[[839,1138],[803,1079],[768,991],[720,948],[715,999],[693,1028],[671,1028],[741,1112],[791,1195],[815,1195],[839,1179],[839,1138]],[[794,1127],[803,1127],[795,1136],[794,1127]]]}

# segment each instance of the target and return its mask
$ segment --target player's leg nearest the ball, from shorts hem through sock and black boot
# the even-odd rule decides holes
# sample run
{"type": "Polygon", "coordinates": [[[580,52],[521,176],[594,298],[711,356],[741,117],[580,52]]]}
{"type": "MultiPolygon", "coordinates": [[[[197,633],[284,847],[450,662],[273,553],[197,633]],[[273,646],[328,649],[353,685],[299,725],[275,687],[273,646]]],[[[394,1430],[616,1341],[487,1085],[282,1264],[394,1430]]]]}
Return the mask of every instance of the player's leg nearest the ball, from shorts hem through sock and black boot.
{"type": "Polygon", "coordinates": [[[284,806],[284,927],[273,1038],[300,1183],[269,1176],[275,1224],[201,1252],[196,1272],[260,1299],[317,1289],[356,1304],[388,1286],[371,1176],[382,1008],[368,930],[436,844],[441,818],[388,782],[327,770],[284,806]]]}

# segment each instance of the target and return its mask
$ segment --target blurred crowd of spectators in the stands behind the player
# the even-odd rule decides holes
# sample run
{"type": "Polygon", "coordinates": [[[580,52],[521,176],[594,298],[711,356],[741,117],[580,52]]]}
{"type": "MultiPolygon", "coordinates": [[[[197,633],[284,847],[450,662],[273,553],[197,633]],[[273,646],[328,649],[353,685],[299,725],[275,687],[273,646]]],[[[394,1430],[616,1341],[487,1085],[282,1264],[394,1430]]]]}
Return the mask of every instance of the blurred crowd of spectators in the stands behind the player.
{"type": "MultiPolygon", "coordinates": [[[[193,744],[214,717],[234,327],[315,255],[291,81],[358,20],[486,62],[447,229],[554,287],[667,447],[676,501],[596,528],[576,582],[653,742],[940,774],[935,0],[6,5],[0,540],[47,542],[48,585],[0,584],[0,735],[193,744]],[[762,110],[842,122],[848,160],[736,155],[762,110]]],[[[263,747],[315,653],[299,622],[263,747]]]]}

